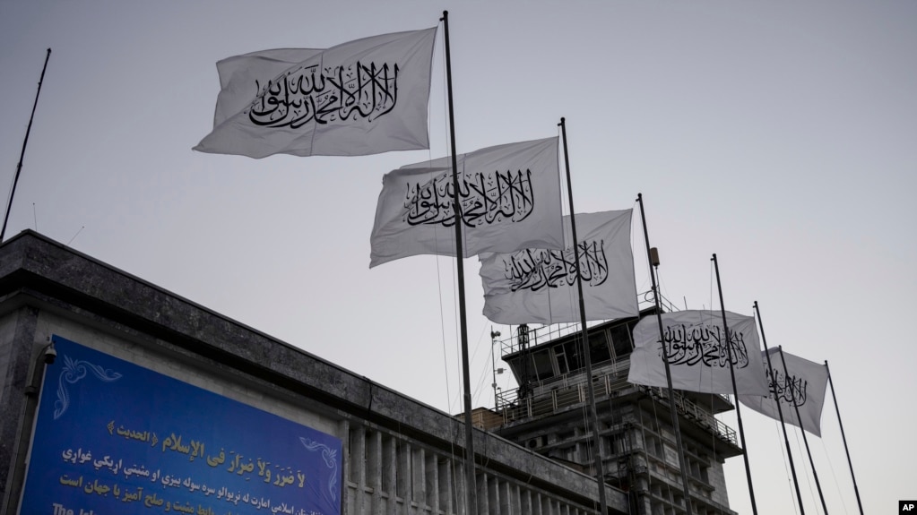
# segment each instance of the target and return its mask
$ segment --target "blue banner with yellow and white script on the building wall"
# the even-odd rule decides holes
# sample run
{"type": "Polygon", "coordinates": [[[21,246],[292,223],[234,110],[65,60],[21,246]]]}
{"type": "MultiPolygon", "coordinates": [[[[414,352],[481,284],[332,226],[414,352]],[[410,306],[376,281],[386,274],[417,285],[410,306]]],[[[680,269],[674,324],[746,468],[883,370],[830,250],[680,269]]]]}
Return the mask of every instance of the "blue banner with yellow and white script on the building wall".
{"type": "Polygon", "coordinates": [[[52,341],[23,515],[340,513],[337,437],[52,341]]]}

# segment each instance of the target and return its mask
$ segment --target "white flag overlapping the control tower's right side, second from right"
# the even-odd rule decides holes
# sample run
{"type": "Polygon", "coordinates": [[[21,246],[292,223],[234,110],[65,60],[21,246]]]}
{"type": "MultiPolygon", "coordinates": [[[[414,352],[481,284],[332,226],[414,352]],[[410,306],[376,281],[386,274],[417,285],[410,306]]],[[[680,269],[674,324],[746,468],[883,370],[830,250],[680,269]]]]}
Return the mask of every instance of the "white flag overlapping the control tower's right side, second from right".
{"type": "Polygon", "coordinates": [[[768,395],[754,317],[726,312],[726,324],[728,339],[723,330],[722,312],[663,313],[663,345],[659,342],[656,316],[645,317],[634,327],[634,352],[627,380],[641,385],[666,386],[663,359],[667,359],[673,388],[733,393],[729,372],[731,356],[735,390],[740,394],[768,395]]]}

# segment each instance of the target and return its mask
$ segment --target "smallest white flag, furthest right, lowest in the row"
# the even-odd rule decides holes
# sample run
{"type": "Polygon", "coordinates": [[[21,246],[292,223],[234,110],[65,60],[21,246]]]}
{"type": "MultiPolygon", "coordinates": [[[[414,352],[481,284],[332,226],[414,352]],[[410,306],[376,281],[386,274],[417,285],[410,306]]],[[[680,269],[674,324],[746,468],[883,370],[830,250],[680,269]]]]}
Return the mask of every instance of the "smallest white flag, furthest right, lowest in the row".
{"type": "Polygon", "coordinates": [[[764,352],[770,353],[770,366],[773,369],[773,375],[771,375],[768,369],[768,358],[762,353],[770,395],[767,397],[740,395],[739,402],[774,420],[779,421],[782,413],[784,422],[821,437],[822,408],[824,393],[828,388],[828,369],[824,365],[793,356],[788,352],[783,353],[787,361],[787,366],[784,368],[779,348],[771,348],[764,352]],[[779,412],[775,397],[780,400],[779,412]],[[797,408],[799,416],[796,415],[797,408]]]}

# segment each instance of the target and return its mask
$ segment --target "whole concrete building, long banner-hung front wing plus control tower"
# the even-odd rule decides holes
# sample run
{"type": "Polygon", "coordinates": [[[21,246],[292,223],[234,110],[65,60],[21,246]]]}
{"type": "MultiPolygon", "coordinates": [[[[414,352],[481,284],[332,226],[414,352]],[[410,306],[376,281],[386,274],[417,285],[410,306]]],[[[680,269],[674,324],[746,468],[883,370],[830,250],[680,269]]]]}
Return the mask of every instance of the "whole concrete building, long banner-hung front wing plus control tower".
{"type": "MultiPolygon", "coordinates": [[[[665,394],[624,381],[634,322],[591,332],[608,512],[682,513],[665,394]]],[[[507,342],[524,388],[475,413],[477,513],[599,512],[572,338],[507,342]]],[[[695,513],[731,513],[730,405],[676,402],[695,513]]],[[[35,232],[0,245],[0,513],[464,514],[463,447],[461,417],[35,232]]]]}

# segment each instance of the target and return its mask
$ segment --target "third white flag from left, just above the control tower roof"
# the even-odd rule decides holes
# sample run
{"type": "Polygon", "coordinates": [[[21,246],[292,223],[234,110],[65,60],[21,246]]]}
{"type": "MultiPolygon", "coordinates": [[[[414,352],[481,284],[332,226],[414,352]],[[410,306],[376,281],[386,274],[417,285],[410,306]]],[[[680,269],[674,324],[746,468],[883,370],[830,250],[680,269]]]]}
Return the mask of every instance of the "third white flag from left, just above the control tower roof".
{"type": "MultiPolygon", "coordinates": [[[[495,323],[580,322],[577,272],[587,320],[637,316],[634,210],[577,214],[580,266],[573,248],[527,248],[513,254],[481,254],[484,316],[495,323]]],[[[569,226],[569,216],[564,216],[569,226]]]]}

